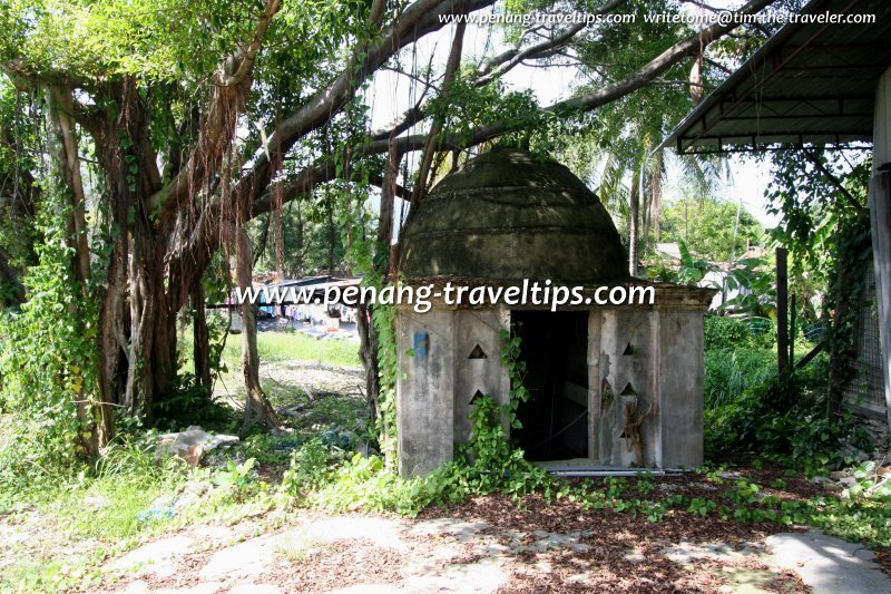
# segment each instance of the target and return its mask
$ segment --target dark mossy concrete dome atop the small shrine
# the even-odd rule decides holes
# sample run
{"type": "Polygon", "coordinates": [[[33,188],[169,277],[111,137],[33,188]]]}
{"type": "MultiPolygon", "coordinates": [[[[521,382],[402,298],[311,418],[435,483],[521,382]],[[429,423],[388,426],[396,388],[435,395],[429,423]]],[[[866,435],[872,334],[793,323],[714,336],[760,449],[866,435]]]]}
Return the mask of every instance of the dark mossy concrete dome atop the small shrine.
{"type": "Polygon", "coordinates": [[[402,231],[408,279],[627,280],[613,220],[564,165],[496,148],[468,160],[427,195],[402,231]]]}

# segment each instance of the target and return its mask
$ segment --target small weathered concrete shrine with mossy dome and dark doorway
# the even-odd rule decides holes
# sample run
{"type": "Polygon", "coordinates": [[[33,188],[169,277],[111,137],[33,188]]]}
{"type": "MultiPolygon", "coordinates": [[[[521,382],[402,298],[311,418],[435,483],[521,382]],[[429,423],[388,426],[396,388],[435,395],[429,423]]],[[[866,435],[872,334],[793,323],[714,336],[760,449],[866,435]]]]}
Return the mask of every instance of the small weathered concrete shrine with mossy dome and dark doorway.
{"type": "Polygon", "coordinates": [[[703,314],[713,291],[630,277],[609,214],[565,166],[508,148],[468,160],[412,210],[399,254],[407,284],[437,288],[430,311],[396,313],[403,476],[452,459],[470,437],[474,398],[507,403],[508,329],[521,339],[530,392],[511,438],[528,459],[579,469],[702,465],[703,314]],[[557,311],[518,302],[536,282],[579,288],[584,299],[557,311]],[[447,300],[448,283],[482,286],[489,299],[447,300]],[[635,289],[635,302],[600,304],[615,288],[635,289]]]}

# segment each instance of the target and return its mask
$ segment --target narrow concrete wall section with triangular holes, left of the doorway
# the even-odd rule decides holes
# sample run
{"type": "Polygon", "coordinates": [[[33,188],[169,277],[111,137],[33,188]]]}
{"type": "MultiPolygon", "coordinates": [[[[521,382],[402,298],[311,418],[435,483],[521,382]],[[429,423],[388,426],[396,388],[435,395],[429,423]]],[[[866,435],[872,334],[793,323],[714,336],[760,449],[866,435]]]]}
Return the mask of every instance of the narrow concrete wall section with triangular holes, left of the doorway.
{"type": "Polygon", "coordinates": [[[470,438],[470,403],[478,392],[495,398],[500,405],[508,401],[510,378],[501,366],[500,332],[509,324],[510,314],[502,308],[456,312],[453,415],[457,444],[470,438]]]}

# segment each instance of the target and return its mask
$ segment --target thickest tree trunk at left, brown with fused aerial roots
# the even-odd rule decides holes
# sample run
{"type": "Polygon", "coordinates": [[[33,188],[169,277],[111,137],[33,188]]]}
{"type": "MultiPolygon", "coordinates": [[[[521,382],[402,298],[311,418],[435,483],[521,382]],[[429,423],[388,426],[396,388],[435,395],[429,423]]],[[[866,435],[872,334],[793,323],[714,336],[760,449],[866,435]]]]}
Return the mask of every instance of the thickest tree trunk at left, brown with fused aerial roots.
{"type": "Polygon", "coordinates": [[[146,205],[161,186],[148,99],[130,79],[110,86],[108,94],[119,111],[84,118],[96,142],[107,212],[117,230],[99,319],[102,384],[107,401],[150,421],[156,400],[170,395],[175,383],[176,313],[185,298],[182,281],[167,265],[173,242],[158,231],[158,216],[146,205]]]}

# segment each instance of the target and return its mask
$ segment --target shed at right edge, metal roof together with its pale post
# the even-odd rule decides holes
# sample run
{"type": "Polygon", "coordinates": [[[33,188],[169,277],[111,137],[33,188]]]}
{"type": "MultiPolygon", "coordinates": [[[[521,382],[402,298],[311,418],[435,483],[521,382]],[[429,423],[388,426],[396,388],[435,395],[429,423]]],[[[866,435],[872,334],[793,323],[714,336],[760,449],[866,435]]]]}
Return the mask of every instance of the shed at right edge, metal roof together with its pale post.
{"type": "Polygon", "coordinates": [[[813,0],[800,14],[804,18],[783,26],[663,146],[681,154],[872,148],[874,299],[883,412],[891,427],[891,2],[813,0]]]}

